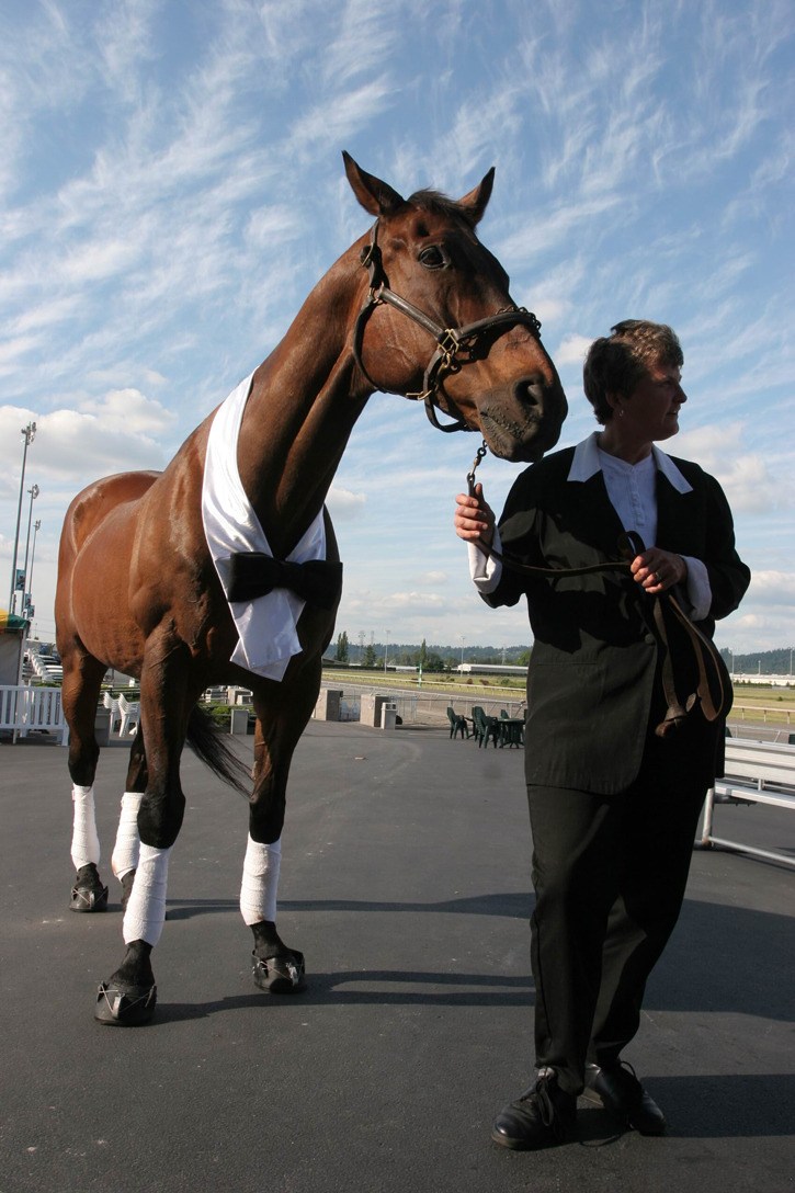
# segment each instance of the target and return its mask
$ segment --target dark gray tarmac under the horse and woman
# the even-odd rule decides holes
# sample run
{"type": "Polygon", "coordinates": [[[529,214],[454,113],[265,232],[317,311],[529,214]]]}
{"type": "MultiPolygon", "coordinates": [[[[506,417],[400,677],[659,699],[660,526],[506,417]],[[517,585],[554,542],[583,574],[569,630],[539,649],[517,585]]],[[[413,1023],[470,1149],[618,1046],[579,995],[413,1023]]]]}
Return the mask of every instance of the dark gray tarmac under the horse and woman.
{"type": "MultiPolygon", "coordinates": [[[[252,738],[235,738],[251,756],[252,738]]],[[[522,750],[445,729],[310,722],[295,756],[279,931],[309,989],[259,993],[238,909],[245,801],[190,754],[154,953],[155,1021],[104,1027],[123,946],[110,873],[127,749],[97,777],[111,905],[68,910],[66,750],[0,743],[0,1193],[739,1193],[795,1187],[795,878],[697,851],[627,1053],[670,1123],[578,1142],[489,1141],[530,1083],[530,834],[522,750]]],[[[717,809],[793,851],[791,814],[717,809]]],[[[738,834],[741,834],[738,837],[738,834]]]]}

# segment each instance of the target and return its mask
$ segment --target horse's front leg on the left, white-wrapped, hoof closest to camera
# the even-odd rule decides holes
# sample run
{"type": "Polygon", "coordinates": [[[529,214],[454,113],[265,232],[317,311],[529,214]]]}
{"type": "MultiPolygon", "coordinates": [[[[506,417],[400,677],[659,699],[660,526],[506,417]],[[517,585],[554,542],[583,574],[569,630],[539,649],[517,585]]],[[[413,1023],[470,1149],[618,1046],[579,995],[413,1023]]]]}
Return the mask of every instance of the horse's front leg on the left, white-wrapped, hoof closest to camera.
{"type": "Polygon", "coordinates": [[[179,760],[187,727],[187,659],[178,644],[147,644],[141,675],[141,723],[146,735],[147,790],[137,811],[140,849],[127,904],[119,968],[99,987],[94,1015],[103,1024],[135,1027],[154,1013],[158,988],[152,950],[166,919],[168,863],[185,812],[179,760]]]}

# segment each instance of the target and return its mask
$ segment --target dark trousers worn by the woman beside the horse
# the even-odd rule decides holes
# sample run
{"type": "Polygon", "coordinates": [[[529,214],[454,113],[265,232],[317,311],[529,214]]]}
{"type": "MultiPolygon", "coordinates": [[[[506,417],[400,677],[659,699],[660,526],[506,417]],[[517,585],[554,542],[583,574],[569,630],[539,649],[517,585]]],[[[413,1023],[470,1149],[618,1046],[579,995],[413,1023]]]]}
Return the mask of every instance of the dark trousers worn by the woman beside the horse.
{"type": "Polygon", "coordinates": [[[705,795],[689,737],[649,735],[640,774],[615,796],[528,786],[536,1064],[573,1094],[586,1061],[611,1064],[635,1036],[679,917],[705,795]]]}

